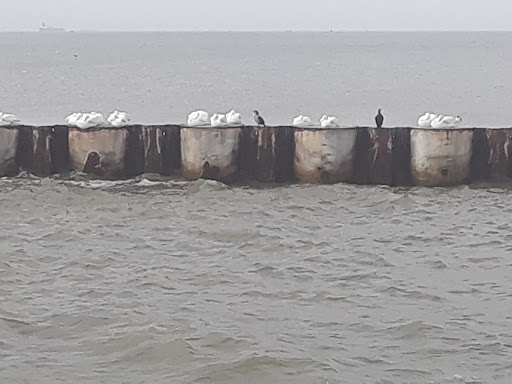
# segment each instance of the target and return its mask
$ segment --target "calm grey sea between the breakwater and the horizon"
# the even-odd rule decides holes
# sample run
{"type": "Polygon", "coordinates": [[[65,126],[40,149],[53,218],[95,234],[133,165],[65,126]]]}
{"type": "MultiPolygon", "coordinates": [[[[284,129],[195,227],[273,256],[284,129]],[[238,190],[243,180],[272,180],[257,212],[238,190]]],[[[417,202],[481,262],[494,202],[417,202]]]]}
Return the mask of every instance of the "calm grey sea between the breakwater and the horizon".
{"type": "Polygon", "coordinates": [[[425,111],[510,127],[512,33],[0,34],[0,111],[29,124],[127,110],[180,123],[198,108],[411,126],[425,111]],[[78,57],[75,58],[75,55],[78,57]]]}

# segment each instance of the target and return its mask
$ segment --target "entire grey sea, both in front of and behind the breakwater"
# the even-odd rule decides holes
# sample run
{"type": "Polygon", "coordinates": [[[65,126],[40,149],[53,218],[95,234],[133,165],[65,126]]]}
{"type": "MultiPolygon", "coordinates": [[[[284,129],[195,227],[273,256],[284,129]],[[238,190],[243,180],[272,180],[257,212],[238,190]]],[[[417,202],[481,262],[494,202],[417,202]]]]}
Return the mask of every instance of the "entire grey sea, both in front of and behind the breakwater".
{"type": "MultiPolygon", "coordinates": [[[[0,110],[507,125],[512,34],[0,34],[0,110]],[[74,55],[77,54],[78,58],[74,55]]],[[[510,125],[510,124],[509,124],[510,125]]],[[[0,383],[509,384],[510,185],[0,179],[0,383]]]]}

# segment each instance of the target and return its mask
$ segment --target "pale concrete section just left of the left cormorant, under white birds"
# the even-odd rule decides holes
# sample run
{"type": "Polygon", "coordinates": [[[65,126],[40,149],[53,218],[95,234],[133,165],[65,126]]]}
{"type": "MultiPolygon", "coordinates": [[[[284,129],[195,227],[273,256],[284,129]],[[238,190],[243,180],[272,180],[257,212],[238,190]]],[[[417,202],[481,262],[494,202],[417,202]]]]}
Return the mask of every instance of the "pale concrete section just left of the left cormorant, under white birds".
{"type": "Polygon", "coordinates": [[[187,180],[237,176],[241,127],[182,127],[181,169],[187,180]]]}

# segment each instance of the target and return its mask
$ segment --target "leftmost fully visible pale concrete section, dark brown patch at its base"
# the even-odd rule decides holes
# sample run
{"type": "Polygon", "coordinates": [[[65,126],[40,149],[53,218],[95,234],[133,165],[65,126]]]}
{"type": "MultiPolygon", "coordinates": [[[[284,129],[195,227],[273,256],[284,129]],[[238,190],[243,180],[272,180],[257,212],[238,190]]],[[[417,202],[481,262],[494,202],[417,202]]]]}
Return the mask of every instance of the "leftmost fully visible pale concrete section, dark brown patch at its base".
{"type": "Polygon", "coordinates": [[[97,177],[125,177],[128,129],[69,129],[71,169],[97,177]]]}

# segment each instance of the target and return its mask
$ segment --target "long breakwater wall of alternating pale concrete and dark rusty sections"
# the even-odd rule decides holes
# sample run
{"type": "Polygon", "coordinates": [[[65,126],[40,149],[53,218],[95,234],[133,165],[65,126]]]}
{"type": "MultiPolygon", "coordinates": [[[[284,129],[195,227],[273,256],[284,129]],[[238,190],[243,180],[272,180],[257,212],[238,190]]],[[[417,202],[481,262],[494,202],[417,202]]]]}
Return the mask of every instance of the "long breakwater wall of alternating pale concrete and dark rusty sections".
{"type": "Polygon", "coordinates": [[[512,128],[0,127],[0,176],[449,186],[512,180],[512,128]]]}

